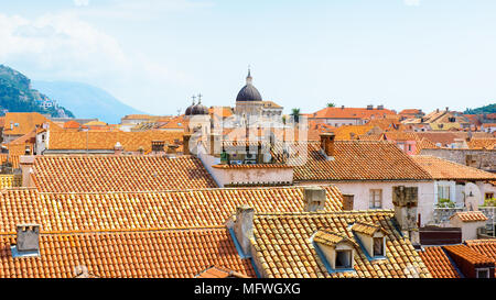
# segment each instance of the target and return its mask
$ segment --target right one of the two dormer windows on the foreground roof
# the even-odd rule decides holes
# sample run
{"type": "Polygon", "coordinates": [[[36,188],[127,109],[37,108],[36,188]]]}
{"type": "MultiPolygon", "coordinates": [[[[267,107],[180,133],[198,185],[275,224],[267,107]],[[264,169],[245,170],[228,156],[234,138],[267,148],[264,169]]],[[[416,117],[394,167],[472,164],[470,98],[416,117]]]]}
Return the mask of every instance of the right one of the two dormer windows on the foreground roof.
{"type": "Polygon", "coordinates": [[[360,246],[368,254],[369,259],[384,258],[386,256],[387,232],[377,224],[369,222],[356,222],[352,226],[360,246]]]}

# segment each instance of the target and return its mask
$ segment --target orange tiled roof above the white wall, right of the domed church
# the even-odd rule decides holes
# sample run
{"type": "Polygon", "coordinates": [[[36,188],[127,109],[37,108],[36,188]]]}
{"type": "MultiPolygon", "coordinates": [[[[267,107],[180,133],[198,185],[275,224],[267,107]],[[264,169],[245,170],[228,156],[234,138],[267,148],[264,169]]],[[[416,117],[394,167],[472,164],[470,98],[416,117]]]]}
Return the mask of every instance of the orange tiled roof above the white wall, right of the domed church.
{"type": "MultiPolygon", "coordinates": [[[[319,142],[290,144],[291,156],[295,159],[294,180],[432,179],[409,155],[390,142],[336,141],[334,145],[334,160],[327,160],[321,153],[319,142]]],[[[282,145],[276,144],[276,149],[282,153],[282,145]]]]}

